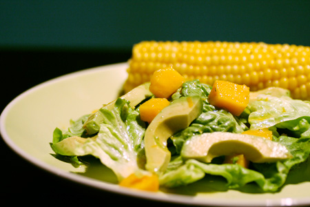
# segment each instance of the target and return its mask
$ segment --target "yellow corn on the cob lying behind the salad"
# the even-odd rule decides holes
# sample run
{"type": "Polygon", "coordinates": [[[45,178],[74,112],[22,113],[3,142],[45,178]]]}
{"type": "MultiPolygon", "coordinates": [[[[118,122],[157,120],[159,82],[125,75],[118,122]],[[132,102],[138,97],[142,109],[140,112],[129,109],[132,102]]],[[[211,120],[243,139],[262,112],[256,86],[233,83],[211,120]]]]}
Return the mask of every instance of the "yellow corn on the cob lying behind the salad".
{"type": "Polygon", "coordinates": [[[149,81],[172,66],[186,80],[212,85],[216,79],[249,86],[287,88],[291,97],[310,100],[310,47],[221,41],[143,41],[132,50],[124,90],[149,81]]]}

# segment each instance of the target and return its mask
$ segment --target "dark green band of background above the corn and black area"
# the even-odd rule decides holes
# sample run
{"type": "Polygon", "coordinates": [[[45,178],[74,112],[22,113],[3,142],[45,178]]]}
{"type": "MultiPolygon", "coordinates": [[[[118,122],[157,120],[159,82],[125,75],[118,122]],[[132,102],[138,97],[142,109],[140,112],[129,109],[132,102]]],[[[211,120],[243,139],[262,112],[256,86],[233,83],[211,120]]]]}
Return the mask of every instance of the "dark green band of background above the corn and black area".
{"type": "Polygon", "coordinates": [[[0,48],[130,50],[141,40],[310,45],[310,1],[0,1],[0,48]]]}

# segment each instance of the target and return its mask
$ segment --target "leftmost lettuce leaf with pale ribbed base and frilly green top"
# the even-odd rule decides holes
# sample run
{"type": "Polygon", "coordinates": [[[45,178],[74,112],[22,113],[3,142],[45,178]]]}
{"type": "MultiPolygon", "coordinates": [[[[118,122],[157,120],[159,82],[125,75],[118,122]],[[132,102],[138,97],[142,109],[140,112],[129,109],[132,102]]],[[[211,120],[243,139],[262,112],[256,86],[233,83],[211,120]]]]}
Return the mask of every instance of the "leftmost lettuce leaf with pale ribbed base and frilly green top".
{"type": "MultiPolygon", "coordinates": [[[[140,170],[137,158],[143,150],[145,123],[125,99],[117,99],[112,110],[101,108],[100,111],[103,123],[96,136],[67,137],[52,144],[52,149],[60,155],[98,157],[121,180],[140,170]]],[[[55,134],[59,134],[57,131],[55,134]]]]}

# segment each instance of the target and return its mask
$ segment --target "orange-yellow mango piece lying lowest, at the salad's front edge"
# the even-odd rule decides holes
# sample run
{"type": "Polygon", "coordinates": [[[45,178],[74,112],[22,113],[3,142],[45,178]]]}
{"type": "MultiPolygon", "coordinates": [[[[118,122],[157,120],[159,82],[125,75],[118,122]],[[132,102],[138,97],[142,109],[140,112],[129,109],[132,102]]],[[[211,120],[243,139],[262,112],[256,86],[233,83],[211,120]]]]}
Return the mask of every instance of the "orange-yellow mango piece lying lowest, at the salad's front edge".
{"type": "Polygon", "coordinates": [[[126,188],[135,188],[138,190],[147,190],[153,192],[156,192],[159,189],[158,176],[155,174],[138,176],[133,173],[132,175],[123,179],[119,185],[126,188]]]}

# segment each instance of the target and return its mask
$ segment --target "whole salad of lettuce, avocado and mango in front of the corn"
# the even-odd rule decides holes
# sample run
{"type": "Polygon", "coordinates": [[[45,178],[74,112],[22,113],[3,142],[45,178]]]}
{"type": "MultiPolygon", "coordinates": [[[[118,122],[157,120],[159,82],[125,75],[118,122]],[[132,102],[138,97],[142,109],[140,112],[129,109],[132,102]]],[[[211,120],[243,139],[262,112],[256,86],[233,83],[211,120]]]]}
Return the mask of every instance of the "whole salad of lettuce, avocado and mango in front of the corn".
{"type": "Polygon", "coordinates": [[[157,191],[207,175],[227,188],[282,188],[310,154],[310,102],[289,90],[185,81],[173,68],[99,110],[55,128],[50,144],[74,165],[92,155],[120,186],[157,191]]]}

